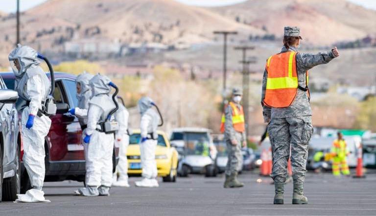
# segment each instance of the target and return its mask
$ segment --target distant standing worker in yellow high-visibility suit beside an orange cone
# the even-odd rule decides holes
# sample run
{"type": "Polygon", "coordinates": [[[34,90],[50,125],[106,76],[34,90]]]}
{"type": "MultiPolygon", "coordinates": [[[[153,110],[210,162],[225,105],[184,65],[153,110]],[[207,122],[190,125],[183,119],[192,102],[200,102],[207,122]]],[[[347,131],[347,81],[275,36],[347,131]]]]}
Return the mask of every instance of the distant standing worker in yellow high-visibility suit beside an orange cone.
{"type": "Polygon", "coordinates": [[[340,176],[342,174],[350,175],[349,165],[347,165],[347,156],[349,150],[347,148],[346,141],[343,139],[341,132],[337,133],[338,139],[334,140],[330,153],[333,156],[333,164],[331,166],[333,175],[340,176]]]}

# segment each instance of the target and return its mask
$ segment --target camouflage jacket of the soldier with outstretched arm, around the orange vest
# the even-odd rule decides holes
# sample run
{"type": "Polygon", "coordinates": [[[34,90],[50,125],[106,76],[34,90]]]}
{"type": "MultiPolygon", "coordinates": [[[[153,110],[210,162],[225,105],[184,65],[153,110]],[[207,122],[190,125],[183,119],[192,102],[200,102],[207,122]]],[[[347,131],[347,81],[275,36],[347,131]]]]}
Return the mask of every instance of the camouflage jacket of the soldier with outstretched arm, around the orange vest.
{"type": "MultiPolygon", "coordinates": [[[[282,48],[281,52],[285,52],[287,49],[282,48]]],[[[297,48],[290,47],[288,51],[298,52],[297,48]]],[[[298,72],[299,85],[305,87],[306,74],[305,72],[317,65],[327,64],[334,58],[331,51],[319,52],[317,54],[298,53],[296,55],[296,65],[298,72]]],[[[285,108],[270,108],[264,106],[263,99],[266,91],[266,80],[268,78],[268,72],[265,70],[262,79],[262,93],[261,93],[261,105],[263,107],[264,121],[268,122],[274,118],[291,118],[297,116],[311,116],[312,110],[309,105],[309,100],[306,92],[298,89],[297,96],[289,107],[285,108]]]]}

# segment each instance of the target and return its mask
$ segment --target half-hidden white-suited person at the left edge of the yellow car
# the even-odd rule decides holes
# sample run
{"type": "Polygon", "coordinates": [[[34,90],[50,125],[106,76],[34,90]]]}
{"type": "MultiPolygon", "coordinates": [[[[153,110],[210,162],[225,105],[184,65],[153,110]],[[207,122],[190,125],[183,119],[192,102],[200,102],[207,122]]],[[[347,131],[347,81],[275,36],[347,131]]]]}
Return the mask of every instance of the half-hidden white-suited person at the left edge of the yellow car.
{"type": "Polygon", "coordinates": [[[118,103],[118,105],[117,120],[119,122],[119,130],[116,133],[115,146],[119,147],[119,162],[115,169],[112,186],[129,188],[127,160],[129,112],[122,103],[118,103]]]}

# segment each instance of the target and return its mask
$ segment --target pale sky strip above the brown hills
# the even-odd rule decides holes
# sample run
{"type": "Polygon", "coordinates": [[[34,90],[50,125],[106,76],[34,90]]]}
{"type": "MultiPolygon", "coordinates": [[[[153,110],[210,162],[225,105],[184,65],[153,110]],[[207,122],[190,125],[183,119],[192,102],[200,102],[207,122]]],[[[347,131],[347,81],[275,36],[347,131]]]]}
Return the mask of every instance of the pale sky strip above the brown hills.
{"type": "MultiPolygon", "coordinates": [[[[21,0],[21,10],[27,10],[46,0],[21,0]]],[[[223,6],[242,2],[245,0],[177,0],[182,3],[198,6],[223,6]]],[[[348,0],[353,3],[362,5],[367,8],[376,10],[376,0],[348,0]]],[[[0,0],[0,11],[14,12],[16,11],[16,0],[0,0]]]]}

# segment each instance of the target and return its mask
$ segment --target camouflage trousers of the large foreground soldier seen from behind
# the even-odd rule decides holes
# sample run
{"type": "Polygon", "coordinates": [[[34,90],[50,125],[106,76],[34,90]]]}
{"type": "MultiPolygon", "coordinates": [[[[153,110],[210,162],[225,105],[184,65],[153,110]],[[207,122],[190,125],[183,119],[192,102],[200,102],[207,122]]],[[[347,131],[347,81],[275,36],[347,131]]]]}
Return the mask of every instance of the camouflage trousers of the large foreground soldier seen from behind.
{"type": "Polygon", "coordinates": [[[273,118],[268,125],[272,144],[273,169],[271,177],[275,183],[284,183],[287,162],[290,157],[294,184],[304,184],[308,156],[308,143],[313,133],[311,116],[273,118]]]}

